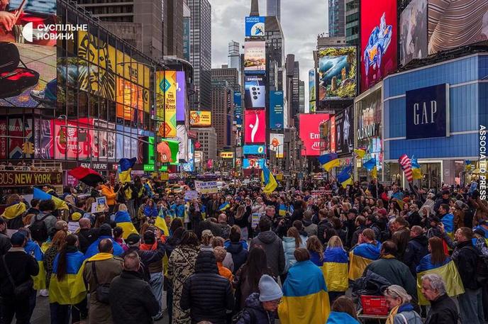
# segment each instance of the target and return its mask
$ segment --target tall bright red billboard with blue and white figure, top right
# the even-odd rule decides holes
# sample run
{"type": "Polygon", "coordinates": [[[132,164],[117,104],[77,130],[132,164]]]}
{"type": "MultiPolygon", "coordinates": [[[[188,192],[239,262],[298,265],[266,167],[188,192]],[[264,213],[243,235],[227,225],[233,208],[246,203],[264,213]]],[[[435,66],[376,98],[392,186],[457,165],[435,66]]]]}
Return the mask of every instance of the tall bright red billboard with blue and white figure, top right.
{"type": "Polygon", "coordinates": [[[397,69],[397,1],[362,0],[360,6],[360,74],[365,91],[397,69]]]}

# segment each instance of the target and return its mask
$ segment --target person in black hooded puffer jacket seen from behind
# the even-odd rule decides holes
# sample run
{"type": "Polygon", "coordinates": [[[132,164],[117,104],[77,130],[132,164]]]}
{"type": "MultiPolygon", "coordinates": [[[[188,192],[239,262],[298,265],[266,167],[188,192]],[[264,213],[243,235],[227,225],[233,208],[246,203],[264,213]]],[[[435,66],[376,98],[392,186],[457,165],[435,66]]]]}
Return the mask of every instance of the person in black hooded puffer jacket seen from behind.
{"type": "Polygon", "coordinates": [[[226,311],[234,307],[231,282],[218,275],[215,255],[201,251],[196,257],[195,274],[184,281],[180,301],[183,310],[190,310],[192,323],[208,320],[226,324],[226,311]]]}

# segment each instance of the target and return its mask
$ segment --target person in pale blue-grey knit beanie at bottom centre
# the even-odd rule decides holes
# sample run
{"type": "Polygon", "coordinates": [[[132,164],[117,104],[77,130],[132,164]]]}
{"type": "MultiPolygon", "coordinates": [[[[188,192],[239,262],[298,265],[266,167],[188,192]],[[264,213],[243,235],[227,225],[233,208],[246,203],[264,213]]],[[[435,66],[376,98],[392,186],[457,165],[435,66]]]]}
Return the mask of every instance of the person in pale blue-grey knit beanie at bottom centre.
{"type": "Polygon", "coordinates": [[[283,296],[282,289],[267,274],[261,276],[259,289],[259,294],[250,294],[245,300],[245,308],[237,324],[275,323],[275,314],[283,296]]]}

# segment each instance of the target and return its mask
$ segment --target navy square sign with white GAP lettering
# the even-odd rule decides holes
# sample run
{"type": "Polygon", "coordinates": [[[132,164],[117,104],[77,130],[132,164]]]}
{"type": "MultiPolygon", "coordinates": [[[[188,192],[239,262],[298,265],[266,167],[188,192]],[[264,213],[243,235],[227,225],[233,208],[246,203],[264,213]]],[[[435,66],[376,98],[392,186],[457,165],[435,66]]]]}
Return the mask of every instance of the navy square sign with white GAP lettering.
{"type": "Polygon", "coordinates": [[[406,91],[406,139],[449,136],[449,84],[406,91]]]}

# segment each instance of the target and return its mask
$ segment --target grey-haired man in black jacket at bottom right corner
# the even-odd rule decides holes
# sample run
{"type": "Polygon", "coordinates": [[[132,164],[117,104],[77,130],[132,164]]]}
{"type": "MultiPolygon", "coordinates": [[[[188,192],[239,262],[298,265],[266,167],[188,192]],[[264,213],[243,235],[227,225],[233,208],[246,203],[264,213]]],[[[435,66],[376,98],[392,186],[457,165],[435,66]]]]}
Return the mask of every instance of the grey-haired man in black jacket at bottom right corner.
{"type": "Polygon", "coordinates": [[[457,324],[457,308],[445,291],[442,277],[438,274],[425,274],[421,281],[422,294],[431,302],[431,309],[424,324],[457,324]]]}

